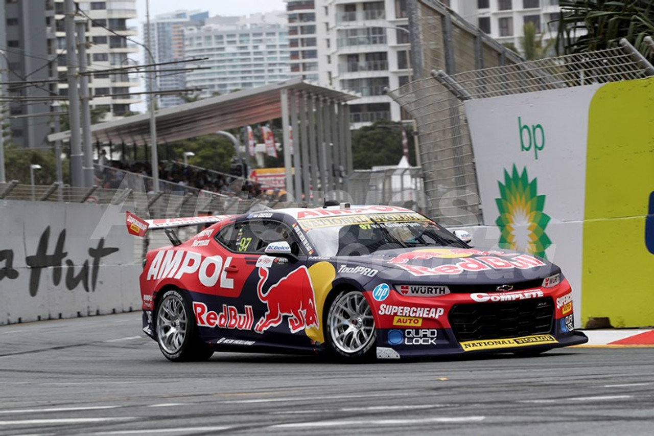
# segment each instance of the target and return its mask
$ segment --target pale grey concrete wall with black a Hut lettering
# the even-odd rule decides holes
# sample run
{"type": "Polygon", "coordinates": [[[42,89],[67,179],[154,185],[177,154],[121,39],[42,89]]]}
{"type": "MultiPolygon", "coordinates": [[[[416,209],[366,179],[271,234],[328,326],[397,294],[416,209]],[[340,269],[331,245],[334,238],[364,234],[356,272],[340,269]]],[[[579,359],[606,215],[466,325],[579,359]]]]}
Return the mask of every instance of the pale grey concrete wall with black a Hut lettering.
{"type": "Polygon", "coordinates": [[[105,210],[0,202],[0,324],[140,310],[135,242],[96,231],[105,210]]]}

